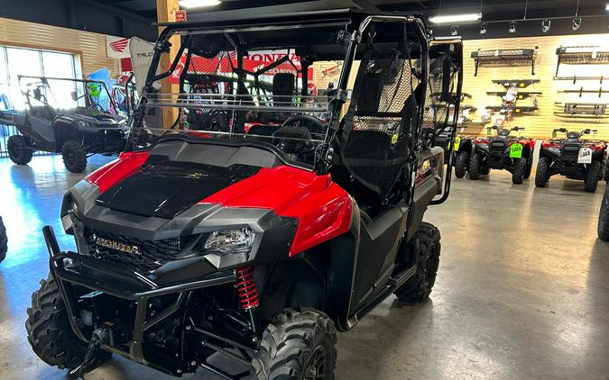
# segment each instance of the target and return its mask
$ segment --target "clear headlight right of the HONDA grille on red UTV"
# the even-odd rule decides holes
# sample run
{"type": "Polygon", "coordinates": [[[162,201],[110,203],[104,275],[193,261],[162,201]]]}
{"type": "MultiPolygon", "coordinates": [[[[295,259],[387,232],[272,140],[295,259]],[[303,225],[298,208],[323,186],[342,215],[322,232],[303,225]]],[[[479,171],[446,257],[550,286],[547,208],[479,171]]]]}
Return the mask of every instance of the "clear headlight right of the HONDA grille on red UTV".
{"type": "Polygon", "coordinates": [[[212,232],[203,246],[205,258],[217,268],[247,261],[256,234],[249,227],[212,232]]]}

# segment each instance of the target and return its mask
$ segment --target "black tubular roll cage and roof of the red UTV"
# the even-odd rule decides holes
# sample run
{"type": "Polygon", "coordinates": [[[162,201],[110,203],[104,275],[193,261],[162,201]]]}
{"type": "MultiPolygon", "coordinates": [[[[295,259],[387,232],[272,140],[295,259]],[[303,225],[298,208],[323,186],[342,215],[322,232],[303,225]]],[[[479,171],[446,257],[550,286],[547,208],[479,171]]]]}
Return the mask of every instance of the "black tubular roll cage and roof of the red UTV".
{"type": "MultiPolygon", "coordinates": [[[[445,131],[448,125],[451,126],[449,139],[452,143],[456,135],[456,125],[458,118],[458,109],[460,102],[460,93],[462,86],[462,45],[458,38],[450,39],[433,39],[427,33],[425,24],[420,18],[411,15],[395,15],[395,14],[378,14],[369,15],[354,12],[352,10],[339,10],[332,12],[322,13],[309,13],[300,15],[284,15],[276,17],[273,20],[269,19],[249,19],[241,23],[231,20],[232,23],[227,24],[226,21],[212,21],[206,20],[205,23],[189,22],[189,23],[164,23],[160,26],[164,26],[165,29],[161,32],[159,41],[155,44],[154,54],[152,56],[152,62],[146,77],[146,81],[143,86],[143,95],[138,104],[137,109],[134,112],[134,118],[131,120],[132,128],[143,127],[143,120],[146,113],[146,107],[188,107],[191,109],[205,109],[212,111],[225,111],[230,110],[236,113],[248,113],[248,112],[268,112],[268,113],[291,113],[292,115],[302,115],[307,113],[313,113],[318,116],[323,114],[325,131],[318,133],[316,140],[318,146],[314,152],[314,159],[311,165],[304,166],[309,170],[317,172],[319,175],[323,175],[329,172],[330,167],[336,165],[336,156],[339,156],[339,161],[346,166],[351,172],[352,176],[355,176],[364,185],[371,187],[376,193],[379,193],[381,197],[387,197],[388,193],[394,187],[398,177],[405,176],[402,178],[406,190],[404,194],[407,199],[412,202],[413,189],[417,176],[417,170],[419,165],[419,152],[420,149],[431,146],[431,141],[424,141],[422,136],[422,128],[425,124],[425,104],[429,88],[429,60],[437,59],[442,55],[448,56],[453,66],[444,67],[443,74],[446,82],[441,81],[440,83],[440,96],[437,100],[443,103],[445,106],[445,112],[443,117],[434,118],[434,122],[431,123],[432,133],[431,140],[435,140],[435,137],[441,131],[445,131]],[[319,44],[318,38],[315,32],[310,34],[302,33],[301,31],[316,31],[317,29],[323,30],[324,28],[335,28],[337,30],[336,41],[331,41],[325,45],[319,44]],[[286,32],[290,31],[290,32],[286,32]],[[245,38],[244,35],[248,35],[249,39],[245,38]],[[258,70],[248,70],[244,68],[243,61],[245,54],[248,50],[256,48],[270,48],[276,46],[281,48],[281,39],[284,39],[285,35],[291,33],[300,33],[302,37],[299,46],[295,48],[295,53],[300,54],[303,57],[302,68],[300,70],[296,68],[301,76],[299,79],[302,81],[300,86],[300,95],[303,97],[312,98],[311,104],[294,104],[293,99],[287,99],[285,96],[263,95],[268,86],[272,84],[263,83],[260,79],[261,75],[265,72],[276,68],[281,64],[291,64],[290,50],[288,54],[281,59],[273,61],[270,65],[267,65],[258,70]],[[179,36],[180,48],[177,51],[175,59],[171,61],[170,68],[164,70],[159,68],[161,62],[161,55],[170,51],[171,37],[179,36]],[[212,36],[208,41],[216,41],[217,46],[198,46],[198,36],[212,36]],[[214,36],[219,36],[214,40],[214,36]],[[274,45],[273,45],[274,42],[274,45]],[[342,53],[339,49],[330,49],[332,46],[341,46],[345,48],[345,52],[342,53]],[[207,49],[207,50],[206,50],[207,49]],[[374,58],[371,59],[370,50],[374,49],[374,58]],[[431,49],[431,50],[430,50],[431,49]],[[197,94],[197,99],[193,98],[184,93],[185,79],[189,76],[189,57],[192,51],[199,51],[199,54],[204,57],[215,57],[218,51],[232,50],[235,52],[235,62],[233,59],[228,60],[232,75],[225,76],[226,82],[230,82],[231,91],[227,94],[215,94],[204,92],[204,94],[197,94]],[[399,51],[398,51],[399,50],[399,51]],[[180,74],[180,94],[167,94],[160,91],[158,86],[155,86],[155,82],[161,79],[167,79],[175,72],[176,68],[180,65],[180,59],[182,55],[187,52],[188,56],[180,74]],[[398,53],[395,53],[398,51],[398,53]],[[207,55],[206,55],[207,53],[207,55]],[[394,54],[395,53],[395,54],[394,54]],[[332,91],[331,95],[328,92],[328,96],[325,101],[322,101],[323,96],[312,96],[308,90],[308,66],[309,60],[314,59],[343,59],[342,70],[337,80],[337,86],[332,91]],[[408,65],[405,68],[402,67],[402,72],[410,76],[408,85],[410,90],[405,93],[398,95],[397,108],[390,110],[391,104],[383,105],[386,109],[379,105],[377,100],[376,108],[370,113],[366,113],[370,104],[365,104],[358,107],[358,89],[363,80],[363,71],[358,69],[357,76],[355,77],[354,91],[348,90],[350,74],[354,71],[355,61],[366,64],[370,62],[373,65],[382,67],[383,62],[388,59],[393,59],[389,64],[395,63],[395,61],[403,62],[408,61],[408,65]],[[414,62],[414,64],[412,63],[414,62]],[[452,71],[451,71],[452,70],[452,71]],[[251,77],[249,80],[247,76],[251,77]],[[229,77],[229,78],[226,78],[229,77]],[[452,77],[457,80],[451,80],[448,77],[452,77]],[[457,89],[455,91],[455,83],[457,89]],[[236,84],[236,86],[235,86],[236,84]],[[443,85],[443,86],[442,86],[443,85]],[[449,85],[450,88],[447,88],[449,85]],[[248,90],[247,88],[250,88],[248,90]],[[443,88],[442,88],[443,87],[443,88]],[[251,89],[254,88],[255,95],[259,96],[257,102],[252,102],[252,95],[254,93],[251,89]],[[261,96],[262,94],[262,96],[261,96]],[[457,94],[457,95],[455,95],[457,94]],[[402,97],[400,97],[402,96],[402,97]],[[266,104],[260,99],[266,99],[266,104]],[[411,101],[410,108],[406,109],[406,104],[400,104],[404,100],[411,101]],[[203,100],[203,101],[202,101],[203,100]],[[348,104],[348,106],[347,106],[348,104]],[[307,106],[303,106],[307,105],[307,106]],[[452,107],[452,111],[451,108],[452,107]],[[346,110],[345,110],[346,108],[346,110]],[[359,108],[362,108],[360,110],[359,108]],[[408,119],[405,122],[404,117],[408,119]],[[372,125],[368,128],[365,122],[362,122],[365,118],[368,121],[372,120],[372,125]],[[376,120],[374,120],[376,118],[376,120]],[[358,121],[358,125],[354,128],[355,120],[358,121]],[[383,122],[392,121],[394,126],[388,128],[383,122]],[[404,125],[408,124],[408,125],[404,125]],[[364,125],[364,129],[368,128],[370,131],[383,130],[389,136],[392,135],[391,144],[383,145],[384,149],[381,150],[394,150],[393,155],[388,157],[387,155],[382,158],[377,158],[374,155],[371,156],[365,162],[365,167],[357,173],[358,165],[355,165],[355,161],[361,161],[356,158],[356,155],[362,155],[362,151],[351,151],[354,159],[346,157],[346,151],[349,150],[350,145],[354,145],[355,142],[350,140],[350,135],[354,134],[353,131],[361,128],[364,125]],[[397,149],[399,147],[399,149],[397,149]],[[338,153],[338,154],[337,154],[338,153]],[[351,164],[348,164],[348,161],[351,164]],[[367,176],[363,172],[369,173],[370,167],[381,169],[383,171],[387,165],[387,162],[392,162],[392,178],[385,181],[386,183],[382,186],[377,186],[379,182],[382,182],[379,178],[367,176]],[[408,167],[408,170],[404,171],[403,167],[408,167]],[[367,177],[366,177],[367,176],[367,177]]],[[[201,44],[202,45],[202,44],[201,44]]],[[[213,45],[213,43],[211,44],[213,45]]],[[[388,64],[388,65],[389,65],[388,64]]],[[[360,65],[363,67],[364,65],[360,65]]],[[[295,68],[295,67],[294,67],[295,68]]],[[[208,76],[208,80],[217,80],[217,77],[208,76]]],[[[188,81],[188,79],[187,79],[188,81]]],[[[384,84],[387,85],[387,84],[384,84]]],[[[392,84],[394,85],[394,84],[392,84]]],[[[297,85],[298,86],[298,85],[297,85]]],[[[401,91],[399,89],[405,86],[393,86],[392,90],[396,93],[401,91]],[[393,90],[393,87],[395,89],[393,90]]],[[[367,89],[366,89],[367,90],[367,89]]],[[[381,89],[383,91],[383,89],[381,89]]],[[[438,92],[435,92],[438,94],[438,92]]],[[[395,99],[395,94],[393,95],[395,99]]],[[[392,100],[393,100],[392,99],[392,100]]],[[[429,103],[433,103],[429,101],[429,103]]],[[[366,102],[359,102],[360,104],[366,102]]],[[[368,102],[369,103],[369,102],[368,102]]],[[[374,107],[373,107],[374,108],[374,107]]],[[[180,117],[179,117],[180,119],[180,117]]],[[[231,134],[235,131],[243,131],[243,121],[233,122],[230,126],[231,131],[224,133],[224,138],[232,138],[231,134]],[[235,125],[236,124],[236,125],[235,125]]],[[[171,128],[176,128],[180,123],[180,120],[176,120],[171,128]]],[[[163,125],[164,128],[169,127],[163,125]]],[[[166,133],[166,132],[163,132],[166,133]]],[[[217,133],[217,132],[216,132],[217,133]]],[[[371,132],[372,133],[372,132],[371,132]]],[[[219,134],[219,133],[218,133],[219,134]]],[[[363,134],[362,134],[363,135],[363,134]]],[[[209,136],[207,136],[209,137],[209,136]]],[[[292,137],[293,138],[293,137],[292,137]]],[[[310,138],[310,137],[309,137],[310,138]]],[[[361,139],[360,139],[361,140],[361,139]]],[[[221,141],[219,143],[222,143],[221,141]]],[[[355,144],[356,145],[356,144],[355,144]]],[[[128,144],[128,149],[133,149],[133,144],[128,144]]],[[[273,147],[274,148],[274,147],[273,147]]],[[[370,147],[367,150],[373,150],[370,147]]],[[[376,147],[378,150],[378,147],[376,147]]],[[[273,149],[276,153],[278,149],[273,149]]],[[[279,152],[281,156],[281,152],[279,152]]],[[[364,152],[366,154],[367,152],[364,152]]],[[[296,167],[303,167],[298,165],[290,158],[282,157],[282,160],[288,162],[289,165],[296,167]]],[[[444,184],[443,194],[441,197],[434,201],[434,204],[442,203],[448,197],[448,191],[450,187],[450,167],[454,162],[454,158],[449,159],[449,169],[447,180],[444,184]]]]}

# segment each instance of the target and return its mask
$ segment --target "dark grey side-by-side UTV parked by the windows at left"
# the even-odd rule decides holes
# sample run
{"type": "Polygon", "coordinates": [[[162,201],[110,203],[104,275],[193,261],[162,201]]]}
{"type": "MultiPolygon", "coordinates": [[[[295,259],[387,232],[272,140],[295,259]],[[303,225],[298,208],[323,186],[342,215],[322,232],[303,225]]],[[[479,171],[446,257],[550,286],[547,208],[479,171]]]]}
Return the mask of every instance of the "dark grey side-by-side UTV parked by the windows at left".
{"type": "Polygon", "coordinates": [[[26,165],[35,150],[45,150],[61,153],[66,168],[80,173],[87,167],[88,155],[125,149],[127,121],[116,114],[117,107],[104,82],[25,76],[20,76],[19,81],[25,88],[27,108],[23,112],[0,111],[0,122],[16,126],[21,133],[9,137],[6,143],[8,156],[15,164],[26,165]],[[71,94],[52,93],[51,84],[71,94]],[[102,91],[108,96],[109,110],[98,102],[102,91]],[[75,104],[85,106],[61,109],[57,101],[65,101],[66,95],[71,95],[75,104]]]}

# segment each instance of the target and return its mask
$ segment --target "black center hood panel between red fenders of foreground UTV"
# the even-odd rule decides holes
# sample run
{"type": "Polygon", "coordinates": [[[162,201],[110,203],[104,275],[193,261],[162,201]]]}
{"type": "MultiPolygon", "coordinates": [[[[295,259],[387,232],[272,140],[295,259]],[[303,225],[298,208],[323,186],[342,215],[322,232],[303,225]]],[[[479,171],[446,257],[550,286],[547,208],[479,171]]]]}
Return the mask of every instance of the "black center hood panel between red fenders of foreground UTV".
{"type": "Polygon", "coordinates": [[[106,190],[97,204],[124,213],[173,218],[209,195],[254,176],[259,169],[239,164],[148,164],[106,190]]]}

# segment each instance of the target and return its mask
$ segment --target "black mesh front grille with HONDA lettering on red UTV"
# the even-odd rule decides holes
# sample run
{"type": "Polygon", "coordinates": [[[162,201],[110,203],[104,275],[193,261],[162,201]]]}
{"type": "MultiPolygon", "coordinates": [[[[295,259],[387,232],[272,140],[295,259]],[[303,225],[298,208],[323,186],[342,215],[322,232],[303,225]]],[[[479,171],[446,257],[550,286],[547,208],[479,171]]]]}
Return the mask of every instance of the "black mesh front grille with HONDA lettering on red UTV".
{"type": "Polygon", "coordinates": [[[85,239],[94,258],[147,273],[175,259],[187,238],[140,240],[86,228],[85,239]]]}

